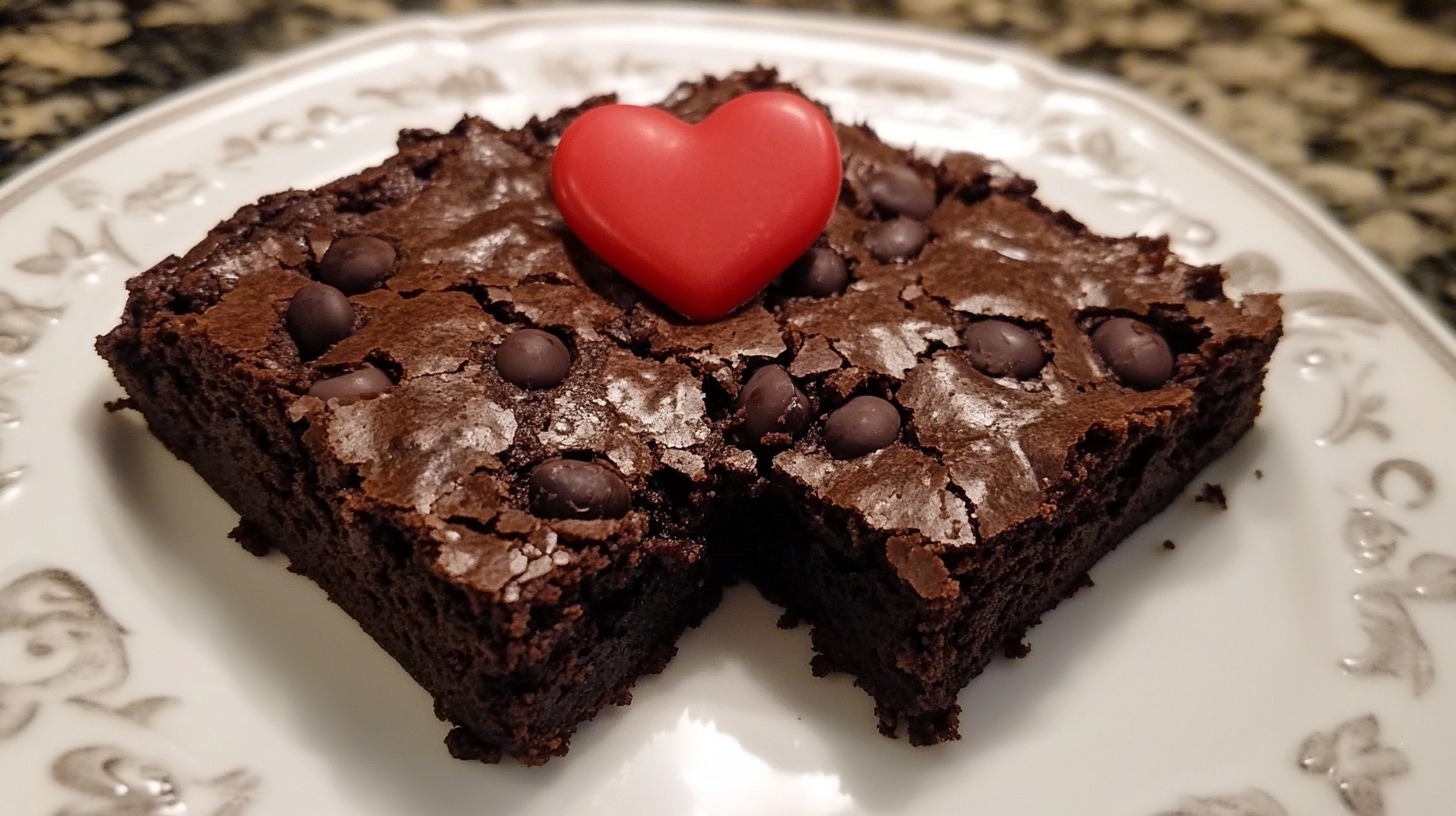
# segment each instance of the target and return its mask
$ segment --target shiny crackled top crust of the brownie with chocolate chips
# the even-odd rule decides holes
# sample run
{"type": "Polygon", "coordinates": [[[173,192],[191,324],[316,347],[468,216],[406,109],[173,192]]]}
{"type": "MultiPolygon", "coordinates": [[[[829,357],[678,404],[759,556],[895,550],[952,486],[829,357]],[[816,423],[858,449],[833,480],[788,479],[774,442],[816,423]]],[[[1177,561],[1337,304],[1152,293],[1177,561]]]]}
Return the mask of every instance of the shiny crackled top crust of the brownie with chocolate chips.
{"type": "MultiPolygon", "coordinates": [[[[697,121],[785,89],[684,85],[697,121]]],[[[585,106],[517,131],[406,131],[383,165],[245,208],[143,281],[280,389],[351,507],[427,533],[435,570],[505,597],[585,544],[692,535],[686,504],[767,479],[884,533],[974,545],[1047,511],[1091,428],[1187,409],[1278,326],[1162,240],[1091,235],[970,154],[930,163],[836,125],[840,204],[756,300],[689,323],[607,268],[550,198],[585,106]]],[[[147,303],[162,305],[157,315],[147,303]]]]}

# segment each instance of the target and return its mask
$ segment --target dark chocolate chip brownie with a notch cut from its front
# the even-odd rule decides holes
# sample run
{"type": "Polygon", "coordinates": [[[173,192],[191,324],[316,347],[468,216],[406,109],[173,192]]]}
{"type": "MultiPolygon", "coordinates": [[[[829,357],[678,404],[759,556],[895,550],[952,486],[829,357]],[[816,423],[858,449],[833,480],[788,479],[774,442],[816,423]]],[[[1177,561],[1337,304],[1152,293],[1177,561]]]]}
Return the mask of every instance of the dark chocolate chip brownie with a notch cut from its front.
{"type": "MultiPolygon", "coordinates": [[[[770,70],[683,85],[699,121],[770,70]]],[[[993,162],[837,125],[840,204],[709,323],[587,251],[549,194],[593,99],[406,131],[132,280],[99,350],[153,433],[454,723],[527,764],[661,669],[741,574],[881,730],[957,697],[1249,428],[1280,334],[1166,242],[1091,235],[993,162]]]]}

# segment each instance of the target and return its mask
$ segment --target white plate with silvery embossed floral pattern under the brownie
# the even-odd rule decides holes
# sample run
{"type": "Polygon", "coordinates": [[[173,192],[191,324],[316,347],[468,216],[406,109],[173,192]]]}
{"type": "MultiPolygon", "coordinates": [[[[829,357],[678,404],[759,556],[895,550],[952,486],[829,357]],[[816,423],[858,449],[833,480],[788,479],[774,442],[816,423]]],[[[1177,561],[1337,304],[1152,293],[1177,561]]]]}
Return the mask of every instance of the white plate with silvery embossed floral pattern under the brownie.
{"type": "Polygon", "coordinates": [[[1449,335],[1328,219],[1182,119],[1000,45],[708,9],[405,20],[128,117],[0,191],[0,800],[7,813],[1450,813],[1449,335]],[[1258,428],[965,691],[875,733],[735,590],[546,768],[448,758],[427,695],[134,417],[92,338],[122,281],[402,127],[649,101],[773,63],[840,117],[1000,156],[1099,230],[1287,293],[1258,428]],[[1259,475],[1262,474],[1262,478],[1259,475]],[[1171,539],[1176,549],[1160,542],[1171,539]]]}

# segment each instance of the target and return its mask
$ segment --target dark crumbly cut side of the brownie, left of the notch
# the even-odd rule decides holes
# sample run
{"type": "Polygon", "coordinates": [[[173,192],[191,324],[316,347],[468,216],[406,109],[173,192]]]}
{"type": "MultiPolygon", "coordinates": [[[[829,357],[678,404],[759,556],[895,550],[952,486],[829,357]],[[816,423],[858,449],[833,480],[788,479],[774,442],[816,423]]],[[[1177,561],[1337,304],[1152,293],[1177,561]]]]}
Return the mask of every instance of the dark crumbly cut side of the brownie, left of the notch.
{"type": "Polygon", "coordinates": [[[626,704],[636,679],[660,672],[678,635],[718,603],[705,548],[654,538],[616,554],[617,586],[598,596],[588,596],[588,581],[581,595],[534,603],[472,597],[440,580],[431,538],[438,530],[400,513],[341,513],[338,500],[322,498],[348,488],[323,484],[329,476],[306,465],[307,431],[288,420],[277,392],[217,376],[230,360],[185,334],[156,331],[146,354],[143,342],[115,331],[102,350],[151,433],[239,511],[233,538],[242,546],[287,555],[291,571],[322,587],[431,691],[437,715],[457,724],[447,745],[459,758],[494,762],[505,752],[537,765],[563,755],[581,721],[626,704]],[[558,615],[563,609],[569,619],[558,615]],[[510,651],[523,653],[513,666],[480,663],[510,651]]]}

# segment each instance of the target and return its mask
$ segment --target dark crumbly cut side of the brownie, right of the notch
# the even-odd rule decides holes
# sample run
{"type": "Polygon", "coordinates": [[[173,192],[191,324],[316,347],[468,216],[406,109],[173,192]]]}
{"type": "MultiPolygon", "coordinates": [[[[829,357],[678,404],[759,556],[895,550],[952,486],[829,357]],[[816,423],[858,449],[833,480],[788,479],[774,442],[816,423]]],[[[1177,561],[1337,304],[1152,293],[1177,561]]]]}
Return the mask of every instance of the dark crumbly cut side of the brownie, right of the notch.
{"type": "Polygon", "coordinates": [[[1150,411],[1079,440],[1064,469],[1069,501],[999,535],[994,552],[914,536],[866,546],[881,536],[773,488],[775,510],[724,516],[725,551],[791,619],[810,624],[815,675],[846,672],[875,699],[881,733],[913,745],[960,739],[965,685],[997,654],[1025,654],[1026,629],[1252,427],[1262,377],[1249,373],[1262,373],[1275,342],[1277,332],[1227,356],[1210,377],[1220,396],[1178,421],[1150,411]]]}

